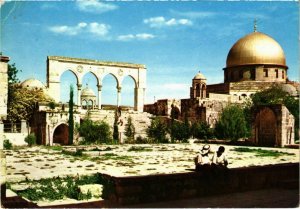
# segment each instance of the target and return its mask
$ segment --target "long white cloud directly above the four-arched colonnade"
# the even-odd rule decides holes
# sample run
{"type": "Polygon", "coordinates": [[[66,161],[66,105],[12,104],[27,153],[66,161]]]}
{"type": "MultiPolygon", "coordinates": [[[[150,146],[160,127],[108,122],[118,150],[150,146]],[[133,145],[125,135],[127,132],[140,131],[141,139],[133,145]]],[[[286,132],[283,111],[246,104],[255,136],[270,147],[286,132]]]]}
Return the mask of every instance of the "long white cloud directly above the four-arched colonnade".
{"type": "Polygon", "coordinates": [[[100,24],[97,22],[85,23],[80,22],[76,26],[53,26],[49,27],[49,30],[56,34],[63,34],[69,36],[79,35],[81,33],[87,33],[96,35],[97,37],[105,37],[109,32],[110,26],[106,24],[100,24]]]}

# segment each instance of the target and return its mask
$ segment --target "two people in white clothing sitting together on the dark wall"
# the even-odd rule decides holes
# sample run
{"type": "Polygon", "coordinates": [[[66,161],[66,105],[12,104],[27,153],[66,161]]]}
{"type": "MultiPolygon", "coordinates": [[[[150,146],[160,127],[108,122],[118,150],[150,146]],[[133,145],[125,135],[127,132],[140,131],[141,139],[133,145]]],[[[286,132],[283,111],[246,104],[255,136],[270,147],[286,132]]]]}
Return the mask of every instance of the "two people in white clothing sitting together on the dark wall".
{"type": "Polygon", "coordinates": [[[210,146],[206,144],[194,159],[196,171],[205,170],[211,167],[227,168],[228,161],[225,155],[225,147],[220,146],[212,157],[209,156],[209,153],[210,146]]]}

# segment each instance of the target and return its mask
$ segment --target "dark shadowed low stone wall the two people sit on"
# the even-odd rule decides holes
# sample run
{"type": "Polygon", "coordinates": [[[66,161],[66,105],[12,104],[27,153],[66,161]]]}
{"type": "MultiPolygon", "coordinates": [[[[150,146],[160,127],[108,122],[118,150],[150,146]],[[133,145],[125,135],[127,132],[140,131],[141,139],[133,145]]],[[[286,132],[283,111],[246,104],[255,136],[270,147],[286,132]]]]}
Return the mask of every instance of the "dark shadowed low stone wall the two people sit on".
{"type": "MultiPolygon", "coordinates": [[[[211,172],[211,171],[210,171],[211,172]]],[[[299,188],[299,164],[229,169],[223,173],[190,172],[138,177],[104,176],[110,183],[107,198],[116,205],[204,197],[214,194],[259,190],[296,181],[299,188]],[[216,176],[218,175],[218,176],[216,176]]]]}

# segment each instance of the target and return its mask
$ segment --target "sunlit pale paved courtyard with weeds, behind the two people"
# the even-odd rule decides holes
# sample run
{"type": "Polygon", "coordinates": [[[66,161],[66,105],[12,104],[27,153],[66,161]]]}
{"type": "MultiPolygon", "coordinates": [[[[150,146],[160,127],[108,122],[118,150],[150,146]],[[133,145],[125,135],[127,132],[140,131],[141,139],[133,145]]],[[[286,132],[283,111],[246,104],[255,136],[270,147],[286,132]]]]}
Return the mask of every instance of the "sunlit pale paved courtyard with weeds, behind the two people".
{"type": "MultiPolygon", "coordinates": [[[[7,150],[7,182],[41,179],[67,175],[105,173],[112,176],[137,176],[191,172],[193,158],[203,144],[153,144],[153,145],[97,145],[86,149],[82,156],[73,156],[62,150],[35,146],[7,150]]],[[[216,151],[219,145],[211,145],[216,151]]],[[[82,148],[82,147],[81,147],[82,148]]],[[[80,148],[80,149],[81,149],[80,148]]],[[[299,150],[287,148],[259,148],[277,151],[278,155],[259,155],[258,152],[241,152],[237,146],[225,146],[229,168],[299,162],[299,150]]],[[[77,149],[79,149],[77,147],[77,149]]],[[[76,147],[66,150],[74,151],[76,147]]],[[[211,153],[212,155],[213,153],[211,153]]]]}

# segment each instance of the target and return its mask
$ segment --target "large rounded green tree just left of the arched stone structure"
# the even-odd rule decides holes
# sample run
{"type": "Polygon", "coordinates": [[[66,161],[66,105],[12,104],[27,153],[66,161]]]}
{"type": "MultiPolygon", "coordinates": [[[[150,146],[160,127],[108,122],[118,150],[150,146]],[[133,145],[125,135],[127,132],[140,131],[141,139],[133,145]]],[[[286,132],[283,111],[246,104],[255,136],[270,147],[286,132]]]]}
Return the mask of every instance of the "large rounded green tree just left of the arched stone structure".
{"type": "Polygon", "coordinates": [[[216,123],[215,133],[218,138],[236,141],[248,135],[244,110],[238,105],[224,108],[219,121],[216,123]]]}

